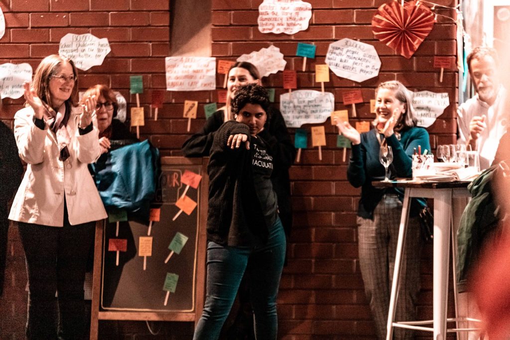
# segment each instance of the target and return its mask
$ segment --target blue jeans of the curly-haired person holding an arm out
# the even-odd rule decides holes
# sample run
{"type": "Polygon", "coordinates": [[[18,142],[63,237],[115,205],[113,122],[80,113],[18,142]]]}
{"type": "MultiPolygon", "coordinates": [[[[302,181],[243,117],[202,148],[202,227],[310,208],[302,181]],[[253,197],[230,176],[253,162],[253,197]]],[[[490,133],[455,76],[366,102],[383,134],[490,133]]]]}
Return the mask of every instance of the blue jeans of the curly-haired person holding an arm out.
{"type": "Polygon", "coordinates": [[[207,246],[207,296],[194,340],[216,340],[232,308],[244,272],[249,273],[250,299],[257,339],[275,340],[276,296],[285,261],[285,232],[279,218],[260,246],[207,246]]]}

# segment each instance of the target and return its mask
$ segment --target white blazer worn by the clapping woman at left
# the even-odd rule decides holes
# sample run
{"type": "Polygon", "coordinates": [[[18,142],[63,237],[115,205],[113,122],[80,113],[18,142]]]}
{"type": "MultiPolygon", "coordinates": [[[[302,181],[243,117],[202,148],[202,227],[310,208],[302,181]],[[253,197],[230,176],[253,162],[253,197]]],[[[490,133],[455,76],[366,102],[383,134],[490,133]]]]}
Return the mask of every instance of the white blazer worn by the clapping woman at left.
{"type": "MultiPolygon", "coordinates": [[[[72,108],[67,122],[70,156],[59,160],[55,133],[47,126],[35,126],[31,107],[14,116],[14,136],[20,158],[28,163],[27,172],[14,197],[9,219],[18,222],[61,227],[64,224],[64,196],[71,225],[107,217],[103,202],[87,164],[99,157],[99,130],[93,116],[93,130],[80,136],[80,109],[72,108]]],[[[2,178],[1,180],[9,180],[2,178]]]]}

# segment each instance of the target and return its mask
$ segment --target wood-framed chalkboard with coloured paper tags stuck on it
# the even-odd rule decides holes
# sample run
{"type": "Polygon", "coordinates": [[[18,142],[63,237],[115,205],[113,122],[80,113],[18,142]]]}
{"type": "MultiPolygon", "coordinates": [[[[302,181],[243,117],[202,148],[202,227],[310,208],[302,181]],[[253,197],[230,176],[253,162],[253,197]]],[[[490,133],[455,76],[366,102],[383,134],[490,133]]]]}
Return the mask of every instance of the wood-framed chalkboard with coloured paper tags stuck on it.
{"type": "Polygon", "coordinates": [[[150,228],[152,251],[145,259],[146,270],[143,270],[144,257],[139,256],[139,240],[148,236],[147,223],[119,222],[118,236],[115,222],[106,220],[96,228],[91,338],[97,337],[97,320],[196,322],[199,319],[205,287],[207,162],[207,159],[162,158],[160,190],[154,204],[160,208],[160,221],[152,222],[150,228]],[[196,189],[190,186],[186,190],[187,185],[182,182],[185,171],[202,176],[196,189]],[[192,200],[197,205],[191,212],[184,209],[172,221],[181,211],[176,201],[183,193],[188,202],[192,200]],[[187,238],[184,246],[183,238],[187,238]],[[126,244],[125,251],[118,252],[118,265],[116,248],[110,247],[115,242],[112,239],[126,240],[122,241],[126,244]],[[172,240],[174,252],[165,263],[172,240]],[[182,249],[173,246],[179,244],[175,241],[181,241],[182,249]],[[163,287],[167,273],[177,274],[179,279],[165,305],[167,291],[163,287]]]}

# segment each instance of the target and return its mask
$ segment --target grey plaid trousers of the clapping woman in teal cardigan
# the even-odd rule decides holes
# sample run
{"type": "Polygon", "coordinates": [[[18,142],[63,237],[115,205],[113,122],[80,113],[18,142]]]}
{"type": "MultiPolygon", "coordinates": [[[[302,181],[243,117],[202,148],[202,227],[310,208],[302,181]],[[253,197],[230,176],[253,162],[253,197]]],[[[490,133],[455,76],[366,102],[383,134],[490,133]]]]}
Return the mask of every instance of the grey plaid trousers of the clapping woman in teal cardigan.
{"type": "MultiPolygon", "coordinates": [[[[357,219],[360,269],[379,339],[386,339],[401,213],[402,203],[398,196],[386,194],[375,208],[373,221],[359,216],[357,219]]],[[[395,321],[416,320],[422,243],[418,217],[410,218],[400,265],[400,291],[395,321]]],[[[393,337],[412,339],[413,333],[409,329],[394,328],[393,337]]]]}

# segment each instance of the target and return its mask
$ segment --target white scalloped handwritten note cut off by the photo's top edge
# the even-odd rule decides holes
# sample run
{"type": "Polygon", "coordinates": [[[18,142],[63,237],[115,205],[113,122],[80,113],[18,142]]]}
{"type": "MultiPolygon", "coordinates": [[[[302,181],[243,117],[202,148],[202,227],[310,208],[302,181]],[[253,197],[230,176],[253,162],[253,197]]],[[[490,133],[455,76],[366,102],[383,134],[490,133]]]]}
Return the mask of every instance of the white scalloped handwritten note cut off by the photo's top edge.
{"type": "Polygon", "coordinates": [[[312,5],[301,0],[264,0],[259,6],[259,31],[261,33],[294,34],[308,29],[312,5]]]}

